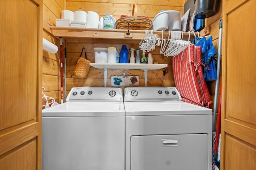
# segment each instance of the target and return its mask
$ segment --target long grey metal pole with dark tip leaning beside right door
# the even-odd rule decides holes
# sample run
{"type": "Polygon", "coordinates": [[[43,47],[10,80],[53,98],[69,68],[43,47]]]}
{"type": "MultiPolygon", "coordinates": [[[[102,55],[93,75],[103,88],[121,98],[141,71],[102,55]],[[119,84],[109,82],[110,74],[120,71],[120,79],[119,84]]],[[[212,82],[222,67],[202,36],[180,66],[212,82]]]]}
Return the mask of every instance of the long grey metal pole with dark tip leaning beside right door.
{"type": "Polygon", "coordinates": [[[216,110],[217,110],[218,90],[219,90],[219,82],[220,82],[221,42],[222,42],[222,19],[220,20],[220,33],[219,33],[218,59],[217,59],[217,80],[215,84],[212,130],[214,130],[215,123],[216,123],[216,110]]]}

